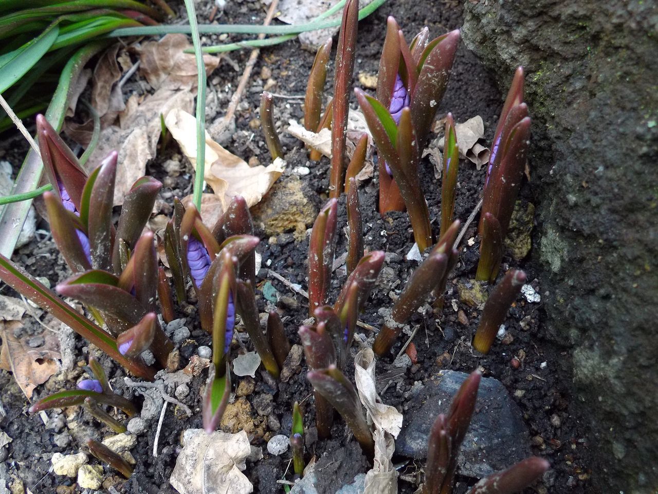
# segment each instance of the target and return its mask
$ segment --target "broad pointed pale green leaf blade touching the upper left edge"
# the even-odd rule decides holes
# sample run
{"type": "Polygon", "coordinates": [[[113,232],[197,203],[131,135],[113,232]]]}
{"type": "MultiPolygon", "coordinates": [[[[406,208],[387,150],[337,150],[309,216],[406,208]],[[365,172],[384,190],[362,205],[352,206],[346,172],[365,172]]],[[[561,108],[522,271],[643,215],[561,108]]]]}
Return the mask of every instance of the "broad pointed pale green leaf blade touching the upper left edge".
{"type": "Polygon", "coordinates": [[[55,43],[58,35],[59,27],[53,23],[34,40],[0,57],[0,93],[32,69],[55,43]]]}

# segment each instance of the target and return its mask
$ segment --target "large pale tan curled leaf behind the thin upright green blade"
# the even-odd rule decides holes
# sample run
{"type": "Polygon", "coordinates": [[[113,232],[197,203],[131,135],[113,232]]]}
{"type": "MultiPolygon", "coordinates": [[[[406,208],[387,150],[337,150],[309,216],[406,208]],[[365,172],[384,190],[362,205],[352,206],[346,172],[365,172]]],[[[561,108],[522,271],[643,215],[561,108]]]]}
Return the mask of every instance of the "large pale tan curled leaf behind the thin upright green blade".
{"type": "MultiPolygon", "coordinates": [[[[196,119],[187,111],[173,109],[164,119],[172,137],[180,150],[196,169],[197,165],[197,126],[196,119]]],[[[286,162],[275,159],[264,167],[250,167],[239,156],[230,153],[217,144],[208,132],[205,133],[205,170],[203,178],[213,188],[222,204],[222,210],[234,196],[242,196],[247,206],[258,204],[272,184],[281,176],[286,162]]]]}

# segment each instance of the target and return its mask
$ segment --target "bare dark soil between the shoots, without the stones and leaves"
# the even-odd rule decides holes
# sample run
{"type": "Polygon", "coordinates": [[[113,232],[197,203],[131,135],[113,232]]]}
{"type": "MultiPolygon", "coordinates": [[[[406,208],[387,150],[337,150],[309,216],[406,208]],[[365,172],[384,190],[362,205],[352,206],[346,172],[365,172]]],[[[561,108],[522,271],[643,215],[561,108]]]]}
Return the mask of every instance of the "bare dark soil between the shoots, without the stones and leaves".
{"type": "MultiPolygon", "coordinates": [[[[230,2],[226,11],[219,18],[219,22],[245,23],[253,22],[252,16],[262,18],[261,4],[259,2],[230,2]]],[[[199,19],[205,20],[209,16],[210,6],[199,13],[199,19]]],[[[390,0],[376,13],[359,24],[359,47],[357,53],[357,67],[355,68],[355,85],[358,84],[356,74],[358,72],[376,73],[380,56],[380,49],[384,40],[386,16],[395,14],[399,24],[407,33],[407,36],[418,32],[422,26],[429,26],[430,33],[437,35],[447,30],[459,28],[461,25],[461,6],[459,2],[418,0],[408,2],[402,0],[390,0]]],[[[240,36],[230,36],[229,40],[239,40],[240,36]]],[[[247,51],[234,52],[230,57],[243,67],[249,53],[247,51]]],[[[251,128],[249,123],[257,117],[253,109],[259,102],[259,94],[263,90],[265,81],[261,80],[259,74],[263,67],[271,71],[271,78],[276,80],[276,90],[280,94],[303,94],[308,71],[313,62],[313,54],[303,51],[298,41],[290,41],[271,49],[261,51],[261,56],[254,69],[251,82],[245,91],[243,100],[247,103],[242,105],[243,110],[238,111],[237,131],[234,138],[226,144],[228,150],[245,157],[256,155],[261,163],[268,162],[268,153],[259,130],[255,131],[255,137],[250,138],[251,128]]],[[[218,88],[224,88],[231,84],[231,88],[237,85],[240,73],[227,69],[226,65],[220,66],[209,80],[216,82],[218,88]]],[[[331,76],[330,76],[331,78],[331,76]]],[[[328,86],[332,86],[328,82],[328,86]]],[[[330,94],[331,88],[327,90],[330,94]]],[[[451,111],[456,121],[465,121],[474,116],[481,115],[484,119],[486,139],[491,140],[493,128],[497,121],[497,115],[501,109],[501,94],[492,77],[480,66],[477,59],[464,47],[460,47],[451,80],[438,110],[441,117],[451,111]]],[[[223,109],[222,109],[223,111],[223,109]]],[[[299,101],[276,99],[276,115],[283,126],[288,118],[301,119],[303,116],[299,101]]],[[[207,115],[209,122],[216,117],[207,115]]],[[[319,163],[307,163],[306,153],[297,140],[287,134],[282,136],[282,142],[287,150],[288,172],[297,166],[309,166],[311,173],[303,180],[303,190],[314,196],[313,201],[318,205],[326,198],[326,187],[328,185],[328,162],[322,159],[319,163]]],[[[148,172],[154,177],[163,180],[168,192],[166,202],[170,204],[172,196],[185,196],[190,190],[187,178],[178,177],[164,180],[161,164],[170,157],[173,151],[163,153],[157,160],[149,164],[148,172]]],[[[532,168],[532,163],[530,163],[532,168]]],[[[430,215],[434,234],[438,235],[439,221],[437,218],[440,211],[440,183],[434,178],[432,165],[424,159],[422,161],[421,183],[428,200],[430,215]]],[[[284,180],[286,177],[282,177],[284,180]]],[[[474,165],[463,161],[459,170],[459,189],[457,192],[457,205],[455,215],[465,221],[478,202],[480,190],[484,180],[484,169],[476,171],[474,165]]],[[[381,249],[389,254],[386,266],[392,269],[395,276],[392,279],[380,281],[380,287],[374,290],[372,300],[367,306],[361,320],[365,323],[379,327],[381,318],[377,311],[380,307],[390,307],[392,300],[389,292],[393,289],[399,290],[409,277],[412,269],[417,265],[415,261],[404,260],[405,254],[413,244],[413,236],[409,228],[406,213],[393,213],[385,219],[377,212],[378,188],[377,180],[373,178],[363,186],[359,192],[362,204],[365,245],[368,250],[381,249]],[[397,255],[395,255],[397,254],[397,255]],[[399,283],[397,283],[399,281],[399,283]]],[[[532,202],[532,183],[524,185],[521,191],[522,204],[532,202]]],[[[344,206],[343,206],[344,207],[344,206]]],[[[271,260],[269,269],[276,271],[282,277],[293,283],[299,283],[306,287],[307,281],[307,251],[308,240],[295,242],[292,233],[284,233],[276,238],[276,243],[267,241],[264,232],[256,233],[263,238],[258,250],[263,260],[271,260]]],[[[587,491],[588,470],[585,463],[588,445],[584,443],[583,427],[578,419],[571,415],[572,399],[569,395],[569,384],[572,379],[570,361],[567,348],[563,348],[545,337],[542,327],[544,312],[541,304],[528,304],[524,301],[510,310],[505,325],[512,341],[507,344],[496,343],[488,356],[474,354],[470,346],[470,340],[474,334],[479,319],[479,310],[463,304],[459,301],[457,294],[457,282],[468,281],[474,277],[478,260],[478,242],[467,242],[468,239],[476,237],[476,222],[474,222],[465,235],[465,241],[461,247],[459,263],[451,275],[445,293],[445,308],[442,314],[428,313],[426,316],[417,314],[411,321],[411,325],[420,325],[415,336],[415,347],[417,348],[417,363],[407,368],[403,375],[395,377],[388,385],[382,400],[387,404],[399,406],[403,413],[412,413],[413,410],[405,410],[405,393],[409,391],[416,381],[425,381],[428,377],[436,375],[440,370],[452,369],[470,372],[480,368],[487,377],[495,377],[503,382],[509,390],[510,395],[518,402],[524,414],[524,420],[530,430],[530,438],[534,454],[543,456],[549,460],[553,470],[547,474],[535,487],[528,489],[528,493],[551,492],[555,494],[582,493],[587,491]],[[454,307],[454,308],[453,308],[454,307]],[[458,316],[463,312],[463,316],[458,316]],[[437,323],[438,321],[438,323],[437,323]],[[523,326],[520,321],[524,321],[523,326]],[[510,360],[516,356],[521,360],[518,369],[511,366],[510,360]],[[547,367],[540,365],[546,362],[547,367]]],[[[345,251],[345,238],[339,236],[336,255],[345,251]]],[[[28,271],[35,275],[45,276],[54,285],[57,281],[68,276],[68,269],[63,258],[54,244],[49,239],[34,240],[28,246],[20,249],[14,255],[14,261],[24,265],[28,271]]],[[[528,275],[528,280],[541,292],[537,278],[540,275],[540,267],[533,263],[517,263],[510,258],[504,259],[505,265],[501,273],[507,267],[522,267],[528,275]]],[[[336,276],[332,284],[332,296],[334,300],[338,290],[342,286],[345,276],[336,276]]],[[[291,343],[299,343],[297,328],[307,318],[307,301],[301,296],[293,293],[285,285],[270,279],[268,271],[262,269],[257,278],[257,285],[262,287],[265,281],[272,285],[284,296],[278,303],[278,310],[286,317],[286,333],[291,343]]],[[[11,290],[3,287],[3,294],[11,294],[11,290]]],[[[258,290],[259,309],[263,312],[266,302],[258,290]]],[[[178,308],[180,317],[188,317],[186,325],[190,327],[191,339],[186,342],[181,352],[180,368],[188,364],[188,360],[196,352],[199,345],[211,344],[211,337],[203,333],[197,323],[195,307],[186,305],[178,308]]],[[[38,326],[26,328],[24,331],[39,331],[38,326]]],[[[368,331],[365,337],[372,336],[368,331]]],[[[401,338],[392,350],[392,355],[397,355],[407,337],[401,338]]],[[[234,356],[238,354],[240,347],[234,348],[234,356]]],[[[84,364],[89,354],[96,354],[95,349],[89,348],[87,344],[78,338],[76,346],[76,361],[78,366],[68,374],[68,382],[62,383],[57,379],[38,387],[34,398],[40,398],[52,391],[73,386],[74,379],[84,373],[84,364]]],[[[386,377],[387,372],[393,369],[390,359],[382,359],[378,362],[378,375],[386,377]]],[[[133,397],[138,404],[143,398],[134,394],[132,389],[124,385],[125,375],[122,368],[114,365],[111,360],[101,356],[101,362],[105,366],[112,379],[114,389],[126,397],[133,397]]],[[[351,362],[348,369],[351,368],[351,362]]],[[[252,445],[263,447],[265,457],[255,463],[247,463],[245,474],[254,485],[255,492],[278,493],[282,492],[282,486],[276,480],[284,477],[288,467],[289,456],[272,456],[266,451],[266,439],[276,433],[290,433],[291,427],[291,404],[295,401],[303,401],[305,405],[305,424],[312,427],[314,424],[313,399],[311,386],[305,379],[305,364],[301,370],[293,374],[287,383],[276,383],[268,379],[267,375],[258,371],[255,379],[255,390],[247,396],[247,400],[253,408],[253,418],[256,424],[263,424],[263,433],[255,433],[251,438],[252,445]],[[270,397],[273,400],[270,402],[270,397]],[[277,425],[280,424],[279,427],[277,425]]],[[[351,373],[349,373],[351,375],[351,373]]],[[[161,435],[159,437],[159,456],[153,457],[153,441],[155,437],[155,422],[149,424],[148,431],[138,436],[138,445],[132,449],[136,458],[136,470],[134,476],[128,481],[118,477],[111,477],[106,481],[105,487],[113,487],[120,493],[174,493],[169,485],[168,479],[174,468],[176,458],[180,452],[180,437],[182,431],[190,427],[201,427],[201,398],[200,388],[205,384],[206,374],[195,377],[190,385],[190,394],[184,402],[193,410],[193,416],[187,418],[178,408],[172,412],[170,407],[163,422],[161,435]]],[[[250,379],[250,378],[244,378],[250,379]]],[[[380,390],[383,389],[390,379],[382,379],[380,390]]],[[[240,379],[234,379],[238,383],[240,379]]],[[[11,374],[0,371],[0,386],[3,389],[1,401],[5,413],[0,415],[0,426],[14,441],[8,449],[0,448],[3,461],[9,473],[24,482],[32,492],[53,493],[80,492],[80,489],[71,487],[66,490],[67,485],[74,485],[74,479],[68,479],[55,474],[48,473],[50,458],[53,453],[59,451],[64,454],[77,453],[82,448],[84,437],[79,431],[70,432],[70,439],[63,441],[58,439],[59,445],[55,444],[55,435],[66,433],[66,420],[64,414],[58,411],[49,412],[50,422],[47,427],[38,416],[30,416],[26,410],[29,404],[13,381],[11,374]],[[6,452],[6,453],[3,453],[6,452]],[[64,486],[59,487],[58,486],[64,486]]],[[[99,427],[93,422],[86,412],[78,410],[76,420],[83,424],[82,429],[86,437],[99,439],[107,435],[104,427],[99,427]]],[[[263,429],[261,429],[262,431],[263,429]]],[[[345,437],[345,426],[341,420],[336,420],[332,430],[333,439],[330,441],[315,441],[307,444],[307,459],[313,454],[320,458],[324,454],[332,454],[343,451],[345,444],[349,441],[345,437]],[[310,447],[309,447],[310,446],[310,447]]],[[[312,435],[312,432],[311,434],[312,435]]],[[[353,439],[351,439],[353,443],[353,439]]],[[[402,493],[413,493],[417,485],[409,480],[417,478],[422,464],[416,464],[406,458],[395,457],[394,462],[401,465],[400,473],[405,480],[399,480],[399,491],[402,493]]],[[[358,461],[353,462],[359,464],[358,461]]],[[[366,472],[364,463],[354,473],[366,472]]],[[[107,472],[107,470],[106,470],[107,472]]],[[[110,470],[112,472],[112,470],[110,470]]],[[[290,480],[290,473],[287,479],[290,480]]],[[[345,477],[347,478],[347,477],[345,477]]],[[[465,486],[474,480],[459,478],[457,492],[465,491],[465,486]]],[[[343,478],[340,474],[333,474],[330,479],[324,479],[323,491],[334,492],[342,485],[343,478]],[[327,482],[328,481],[328,485],[327,482]]],[[[14,482],[16,483],[16,482],[14,482]]],[[[0,487],[1,490],[1,487],[0,487]]]]}

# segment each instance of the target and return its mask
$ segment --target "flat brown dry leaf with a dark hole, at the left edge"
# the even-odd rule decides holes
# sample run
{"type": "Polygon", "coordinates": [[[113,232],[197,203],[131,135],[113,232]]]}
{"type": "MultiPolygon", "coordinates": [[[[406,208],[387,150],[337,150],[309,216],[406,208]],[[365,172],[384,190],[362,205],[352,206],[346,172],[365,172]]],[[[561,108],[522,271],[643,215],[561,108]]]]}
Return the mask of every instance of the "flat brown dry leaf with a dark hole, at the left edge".
{"type": "Polygon", "coordinates": [[[57,360],[61,359],[61,354],[59,341],[51,331],[43,331],[41,336],[44,343],[38,348],[31,348],[26,339],[16,338],[14,331],[20,328],[21,324],[20,321],[0,322],[0,369],[13,373],[18,387],[29,399],[39,384],[45,383],[59,370],[57,360]]]}

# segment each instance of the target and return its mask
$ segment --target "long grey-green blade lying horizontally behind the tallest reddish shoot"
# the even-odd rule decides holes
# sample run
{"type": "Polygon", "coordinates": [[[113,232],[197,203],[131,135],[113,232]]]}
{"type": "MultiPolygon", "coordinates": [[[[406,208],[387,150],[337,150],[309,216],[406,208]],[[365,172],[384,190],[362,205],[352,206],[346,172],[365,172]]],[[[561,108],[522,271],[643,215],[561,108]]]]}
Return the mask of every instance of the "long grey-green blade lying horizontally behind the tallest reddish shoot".
{"type": "MultiPolygon", "coordinates": [[[[359,20],[366,18],[386,0],[374,0],[359,11],[359,20]]],[[[299,34],[305,31],[314,31],[324,28],[340,26],[341,18],[291,24],[289,26],[261,26],[255,24],[201,24],[200,34],[299,34]]],[[[108,36],[152,36],[161,34],[191,34],[190,26],[143,26],[141,28],[121,28],[109,33],[108,36]]]]}

